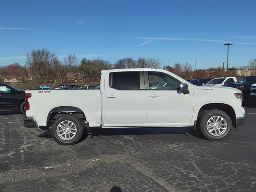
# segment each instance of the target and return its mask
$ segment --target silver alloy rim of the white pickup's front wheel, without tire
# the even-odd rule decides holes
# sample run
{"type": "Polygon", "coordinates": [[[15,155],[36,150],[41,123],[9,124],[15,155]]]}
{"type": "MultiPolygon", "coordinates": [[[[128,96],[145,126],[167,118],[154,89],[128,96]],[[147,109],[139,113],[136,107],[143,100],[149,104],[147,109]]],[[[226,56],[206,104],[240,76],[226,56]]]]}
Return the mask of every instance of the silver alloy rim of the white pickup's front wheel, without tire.
{"type": "Polygon", "coordinates": [[[206,128],[211,135],[221,136],[226,132],[228,124],[223,117],[213,116],[208,120],[206,128]]]}

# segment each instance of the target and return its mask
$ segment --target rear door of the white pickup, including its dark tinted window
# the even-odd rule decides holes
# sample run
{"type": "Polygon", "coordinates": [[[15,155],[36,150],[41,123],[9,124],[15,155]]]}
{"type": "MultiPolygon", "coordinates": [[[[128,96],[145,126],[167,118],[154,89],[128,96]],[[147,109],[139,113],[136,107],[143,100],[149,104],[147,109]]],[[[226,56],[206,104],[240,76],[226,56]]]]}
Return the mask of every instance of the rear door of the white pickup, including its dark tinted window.
{"type": "Polygon", "coordinates": [[[106,73],[102,99],[103,126],[145,124],[146,92],[142,71],[106,73]]]}

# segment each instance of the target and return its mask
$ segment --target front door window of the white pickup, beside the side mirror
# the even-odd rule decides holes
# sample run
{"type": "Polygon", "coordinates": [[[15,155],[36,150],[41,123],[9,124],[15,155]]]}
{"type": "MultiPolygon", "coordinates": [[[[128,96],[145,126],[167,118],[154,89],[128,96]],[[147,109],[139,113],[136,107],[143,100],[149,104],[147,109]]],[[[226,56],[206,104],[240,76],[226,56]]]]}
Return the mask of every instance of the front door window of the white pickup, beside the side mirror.
{"type": "Polygon", "coordinates": [[[180,81],[176,78],[160,72],[148,72],[150,90],[177,90],[180,87],[180,81]],[[160,82],[152,86],[154,82],[160,82]]]}

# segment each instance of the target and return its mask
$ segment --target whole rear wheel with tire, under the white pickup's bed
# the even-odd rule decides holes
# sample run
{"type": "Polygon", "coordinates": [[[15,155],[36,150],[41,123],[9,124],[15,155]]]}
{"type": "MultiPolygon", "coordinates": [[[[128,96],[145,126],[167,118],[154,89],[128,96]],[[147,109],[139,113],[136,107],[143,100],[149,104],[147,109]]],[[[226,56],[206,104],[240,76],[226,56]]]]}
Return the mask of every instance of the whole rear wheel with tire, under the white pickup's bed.
{"type": "Polygon", "coordinates": [[[52,124],[51,133],[54,140],[61,145],[72,145],[82,137],[84,126],[74,115],[62,115],[52,124]]]}

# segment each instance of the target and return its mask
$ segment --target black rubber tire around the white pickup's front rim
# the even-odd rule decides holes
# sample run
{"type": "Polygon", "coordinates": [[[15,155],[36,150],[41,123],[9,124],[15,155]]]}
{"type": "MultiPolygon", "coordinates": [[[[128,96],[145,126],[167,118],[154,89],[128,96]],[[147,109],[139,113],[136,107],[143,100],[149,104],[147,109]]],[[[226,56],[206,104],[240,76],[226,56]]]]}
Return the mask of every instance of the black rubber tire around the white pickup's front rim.
{"type": "MultiPolygon", "coordinates": [[[[230,132],[231,127],[232,127],[232,120],[230,119],[230,116],[222,110],[218,110],[218,109],[209,110],[209,111],[204,112],[204,114],[202,114],[202,116],[200,117],[200,130],[201,130],[202,134],[207,139],[209,139],[211,141],[224,139],[228,135],[228,133],[230,132]],[[220,135],[217,135],[217,136],[210,134],[210,132],[207,130],[208,120],[210,120],[210,118],[212,118],[214,116],[222,117],[226,121],[226,124],[227,124],[226,131],[221,129],[222,131],[224,131],[223,134],[220,134],[220,135]]],[[[212,132],[215,133],[214,128],[212,128],[210,130],[212,130],[212,132]]],[[[217,131],[217,133],[218,133],[218,131],[217,131]]]]}

